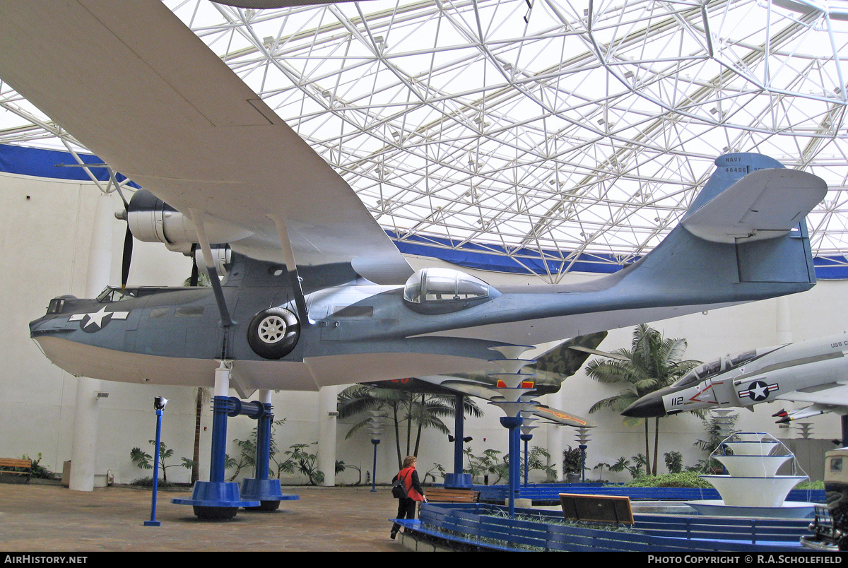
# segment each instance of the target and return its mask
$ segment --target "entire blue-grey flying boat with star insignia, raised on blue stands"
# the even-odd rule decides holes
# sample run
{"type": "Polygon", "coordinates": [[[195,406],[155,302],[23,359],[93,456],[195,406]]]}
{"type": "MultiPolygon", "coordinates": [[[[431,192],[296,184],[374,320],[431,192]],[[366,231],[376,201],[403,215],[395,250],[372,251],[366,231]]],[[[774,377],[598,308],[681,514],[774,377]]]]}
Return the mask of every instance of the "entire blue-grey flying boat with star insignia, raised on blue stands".
{"type": "Polygon", "coordinates": [[[0,77],[144,188],[131,231],[203,251],[209,288],[55,298],[31,335],[112,381],[310,389],[476,372],[534,345],[803,292],[827,187],[758,154],[716,160],[680,226],[611,276],[494,287],[413,272],[354,191],[155,0],[0,3],[0,77]],[[215,272],[226,243],[226,276],[215,272]],[[504,354],[496,353],[501,349],[504,354]]]}

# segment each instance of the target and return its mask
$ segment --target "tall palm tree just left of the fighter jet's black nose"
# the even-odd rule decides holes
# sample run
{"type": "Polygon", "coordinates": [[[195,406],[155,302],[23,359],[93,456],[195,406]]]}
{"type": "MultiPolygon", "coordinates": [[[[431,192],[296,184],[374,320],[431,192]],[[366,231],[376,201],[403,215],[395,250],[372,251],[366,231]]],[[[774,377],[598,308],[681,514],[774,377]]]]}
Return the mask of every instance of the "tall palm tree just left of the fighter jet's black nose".
{"type": "MultiPolygon", "coordinates": [[[[672,385],[692,370],[700,361],[683,359],[687,348],[684,338],[665,339],[660,331],[642,324],[633,330],[630,349],[616,349],[613,354],[623,359],[594,359],[586,366],[586,372],[595,381],[622,385],[622,390],[613,397],[595,403],[589,414],[599,409],[611,408],[618,412],[644,395],[672,385]]],[[[625,423],[644,420],[645,455],[650,456],[648,419],[626,418],[625,423]]],[[[660,442],[660,419],[654,419],[654,457],[645,464],[645,472],[656,476],[657,454],[660,442]]]]}

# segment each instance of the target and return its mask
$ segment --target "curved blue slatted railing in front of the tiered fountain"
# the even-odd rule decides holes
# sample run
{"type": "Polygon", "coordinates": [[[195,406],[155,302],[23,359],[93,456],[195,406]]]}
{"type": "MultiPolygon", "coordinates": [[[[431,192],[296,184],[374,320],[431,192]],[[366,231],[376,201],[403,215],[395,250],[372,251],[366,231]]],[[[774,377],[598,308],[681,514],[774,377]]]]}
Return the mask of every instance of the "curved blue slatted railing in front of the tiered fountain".
{"type": "Polygon", "coordinates": [[[417,521],[397,521],[407,531],[451,543],[494,550],[800,552],[808,521],[715,519],[635,515],[637,532],[612,532],[551,524],[562,516],[491,504],[423,504],[417,521]],[[521,517],[538,521],[527,521],[521,517]]]}

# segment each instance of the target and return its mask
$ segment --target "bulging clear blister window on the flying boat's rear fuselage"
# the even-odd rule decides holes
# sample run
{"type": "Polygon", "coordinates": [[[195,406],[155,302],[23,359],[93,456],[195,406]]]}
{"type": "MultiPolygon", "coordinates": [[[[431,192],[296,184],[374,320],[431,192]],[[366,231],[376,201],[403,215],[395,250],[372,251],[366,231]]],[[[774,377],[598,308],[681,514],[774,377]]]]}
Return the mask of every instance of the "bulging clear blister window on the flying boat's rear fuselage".
{"type": "Polygon", "coordinates": [[[460,270],[426,268],[418,270],[404,286],[404,300],[417,311],[444,313],[465,309],[499,295],[486,282],[460,270]],[[437,308],[444,306],[444,309],[437,308]],[[417,309],[421,308],[421,309],[417,309]]]}

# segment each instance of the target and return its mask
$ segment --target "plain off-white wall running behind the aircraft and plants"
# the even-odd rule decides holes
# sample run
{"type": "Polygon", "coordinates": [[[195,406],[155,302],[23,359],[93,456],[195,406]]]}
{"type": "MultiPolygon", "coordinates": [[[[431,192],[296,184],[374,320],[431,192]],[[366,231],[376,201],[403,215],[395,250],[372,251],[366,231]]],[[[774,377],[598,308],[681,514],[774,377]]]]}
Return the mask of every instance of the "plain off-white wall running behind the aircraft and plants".
{"type": "MultiPolygon", "coordinates": [[[[75,377],[53,366],[40,352],[27,330],[27,324],[44,314],[50,298],[66,293],[82,296],[85,289],[86,262],[90,227],[98,189],[89,183],[47,180],[20,175],[0,174],[0,195],[5,207],[0,212],[0,244],[5,252],[3,293],[3,326],[0,327],[0,457],[35,458],[42,454],[42,465],[52,471],[62,471],[63,462],[70,459],[74,422],[75,377]]],[[[114,209],[122,207],[114,196],[114,209]]],[[[114,222],[114,259],[112,282],[120,281],[120,251],[126,225],[114,222]]],[[[410,258],[414,268],[423,265],[444,265],[432,259],[410,258]]],[[[164,246],[135,242],[131,285],[179,286],[191,269],[190,260],[170,253],[164,246]]],[[[468,270],[494,285],[509,283],[541,283],[528,276],[503,275],[468,270]]],[[[569,281],[588,280],[594,276],[571,275],[569,281]]],[[[810,292],[789,297],[789,314],[793,339],[823,337],[845,332],[845,302],[848,283],[820,281],[810,292]]],[[[714,359],[728,352],[765,347],[778,343],[777,300],[749,303],[726,309],[711,310],[706,315],[695,314],[653,325],[667,337],[686,337],[688,356],[692,359],[714,359]]],[[[613,350],[628,347],[633,328],[611,331],[600,346],[613,350]]],[[[563,331],[567,336],[567,331],[563,331]]],[[[351,377],[355,381],[355,376],[351,377]]],[[[153,397],[170,399],[163,421],[163,441],[175,449],[175,458],[168,470],[169,481],[187,482],[189,472],[176,466],[182,456],[191,457],[194,432],[195,389],[188,387],[150,387],[117,381],[103,381],[108,398],[98,402],[98,463],[95,471],[103,475],[110,471],[117,483],[131,482],[149,471],[141,471],[130,460],[131,448],[152,450],[148,440],[155,433],[153,397]]],[[[641,424],[628,426],[611,410],[589,416],[589,408],[600,400],[616,394],[613,387],[589,379],[583,371],[565,382],[561,408],[595,420],[598,426],[589,442],[587,465],[612,463],[621,456],[627,458],[644,453],[644,430],[641,424]]],[[[555,397],[551,397],[555,398],[555,397]]],[[[314,443],[318,439],[318,393],[279,392],[272,400],[276,418],[285,418],[276,429],[276,444],[284,451],[294,443],[314,443]]],[[[550,403],[551,405],[558,405],[550,403]]],[[[499,425],[499,409],[481,404],[485,415],[466,420],[466,436],[474,454],[486,448],[505,452],[506,431],[499,425]]],[[[786,404],[787,409],[795,408],[786,404]]],[[[209,404],[205,405],[209,409],[209,404]]],[[[776,437],[800,437],[795,429],[782,429],[774,424],[771,415],[782,405],[760,404],[756,411],[739,410],[737,426],[745,430],[770,432],[776,437]]],[[[204,432],[201,441],[201,479],[208,479],[211,413],[203,415],[204,432]]],[[[348,465],[371,470],[373,447],[365,431],[346,439],[355,420],[338,420],[337,459],[348,465]]],[[[812,423],[812,436],[839,438],[840,420],[834,415],[803,420],[812,423]]],[[[704,436],[700,420],[694,416],[678,415],[660,421],[659,469],[665,471],[662,454],[677,450],[684,455],[684,464],[693,465],[704,455],[694,447],[704,436]]],[[[227,441],[229,453],[237,454],[232,440],[248,437],[254,420],[237,417],[229,421],[227,441]]],[[[448,426],[453,431],[452,420],[448,426]]],[[[531,445],[548,447],[548,428],[534,432],[531,445]]],[[[565,445],[576,446],[572,429],[566,428],[565,445]]],[[[652,441],[652,438],[651,438],[652,441]]],[[[404,440],[405,444],[405,440],[404,440]]],[[[315,448],[315,446],[313,446],[315,448]]],[[[405,453],[405,448],[402,450],[405,453]]],[[[388,482],[397,470],[393,434],[389,433],[377,446],[377,481],[388,482]]],[[[560,460],[554,456],[554,461],[560,460]]],[[[447,438],[438,432],[425,431],[419,451],[419,470],[425,473],[439,463],[452,470],[453,449],[447,438]]],[[[252,471],[241,471],[240,477],[252,471]]],[[[593,476],[592,472],[588,476],[593,476]]],[[[337,476],[337,482],[356,482],[357,471],[348,470],[337,476]]],[[[625,481],[628,476],[605,475],[606,479],[625,481]]],[[[533,478],[538,480],[538,476],[533,478]]],[[[303,476],[283,476],[283,482],[304,482],[303,476]]]]}

